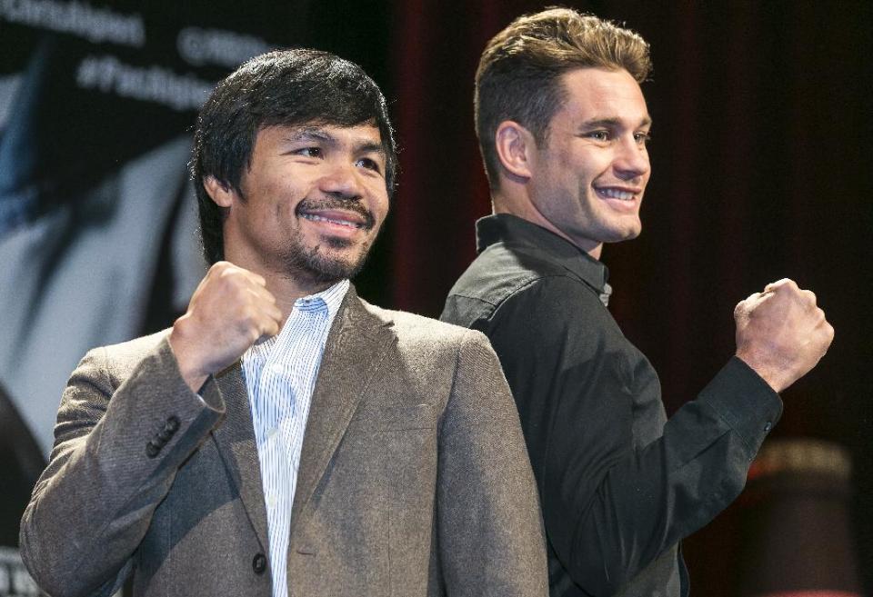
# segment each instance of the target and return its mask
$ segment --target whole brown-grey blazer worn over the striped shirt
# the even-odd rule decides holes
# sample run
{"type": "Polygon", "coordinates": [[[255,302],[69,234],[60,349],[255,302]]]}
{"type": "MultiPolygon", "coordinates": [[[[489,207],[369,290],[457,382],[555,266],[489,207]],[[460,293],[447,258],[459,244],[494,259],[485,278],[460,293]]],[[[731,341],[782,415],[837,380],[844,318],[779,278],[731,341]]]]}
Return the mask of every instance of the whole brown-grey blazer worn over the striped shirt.
{"type": "MultiPolygon", "coordinates": [[[[46,592],[271,594],[266,506],[239,364],[202,400],[157,333],[73,373],[22,520],[46,592]]],[[[289,594],[546,595],[515,405],[480,333],[346,295],[303,444],[289,594]]]]}

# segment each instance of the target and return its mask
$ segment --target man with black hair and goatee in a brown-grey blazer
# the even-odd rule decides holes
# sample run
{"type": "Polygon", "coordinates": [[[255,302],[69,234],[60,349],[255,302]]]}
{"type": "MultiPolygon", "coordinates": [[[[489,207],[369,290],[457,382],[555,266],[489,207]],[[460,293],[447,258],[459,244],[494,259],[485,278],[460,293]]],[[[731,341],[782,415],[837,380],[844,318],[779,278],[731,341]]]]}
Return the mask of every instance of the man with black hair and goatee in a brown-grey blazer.
{"type": "Polygon", "coordinates": [[[171,330],[73,373],[22,556],[53,595],[542,595],[517,413],[479,333],[348,278],[395,145],[356,65],[242,65],[197,124],[213,262],[171,330]],[[226,261],[223,261],[226,260],[226,261]]]}

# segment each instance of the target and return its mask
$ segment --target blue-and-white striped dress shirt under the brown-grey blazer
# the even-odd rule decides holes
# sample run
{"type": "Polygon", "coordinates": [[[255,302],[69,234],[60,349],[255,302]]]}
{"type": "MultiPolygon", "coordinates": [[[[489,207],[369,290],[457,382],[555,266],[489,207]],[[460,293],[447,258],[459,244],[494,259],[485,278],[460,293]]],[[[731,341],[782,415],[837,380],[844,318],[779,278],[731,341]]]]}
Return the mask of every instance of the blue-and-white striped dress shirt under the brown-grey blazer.
{"type": "Polygon", "coordinates": [[[243,354],[266,502],[273,596],[287,597],[288,532],[309,403],[348,280],[297,299],[278,335],[243,354]]]}

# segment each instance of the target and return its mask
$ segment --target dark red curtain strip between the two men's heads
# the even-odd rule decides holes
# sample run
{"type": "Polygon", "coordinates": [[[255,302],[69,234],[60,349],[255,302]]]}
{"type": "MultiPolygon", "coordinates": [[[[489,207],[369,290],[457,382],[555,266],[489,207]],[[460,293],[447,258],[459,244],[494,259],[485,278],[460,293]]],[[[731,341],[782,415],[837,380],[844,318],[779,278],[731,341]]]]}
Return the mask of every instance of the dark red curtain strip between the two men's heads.
{"type": "Polygon", "coordinates": [[[396,17],[400,186],[394,205],[394,301],[438,315],[490,213],[473,133],[473,79],[487,39],[506,25],[500,3],[403,4],[396,17]]]}

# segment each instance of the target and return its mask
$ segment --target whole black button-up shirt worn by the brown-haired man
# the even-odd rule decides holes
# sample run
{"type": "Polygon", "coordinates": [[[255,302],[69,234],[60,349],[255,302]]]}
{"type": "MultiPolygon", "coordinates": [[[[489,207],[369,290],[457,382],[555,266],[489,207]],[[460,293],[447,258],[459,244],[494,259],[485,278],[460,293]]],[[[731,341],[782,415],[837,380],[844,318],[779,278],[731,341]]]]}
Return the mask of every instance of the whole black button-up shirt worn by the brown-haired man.
{"type": "Polygon", "coordinates": [[[513,215],[442,319],[486,333],[515,395],[543,508],[553,596],[687,595],[678,542],[742,490],[782,403],[732,358],[667,422],[657,374],[606,307],[607,268],[513,215]]]}

